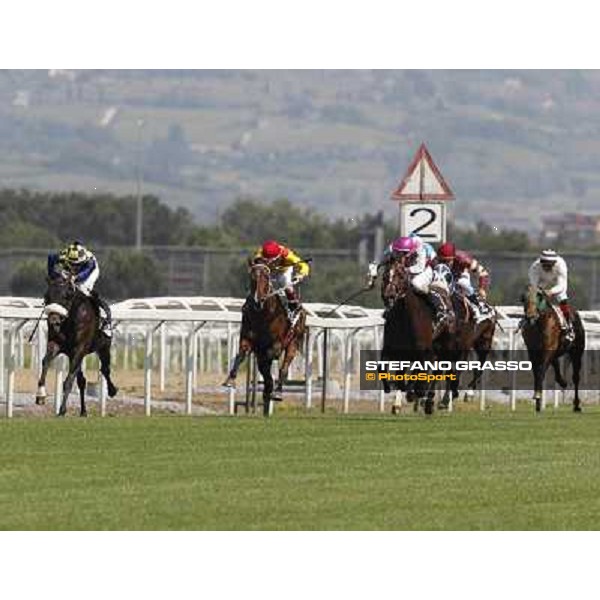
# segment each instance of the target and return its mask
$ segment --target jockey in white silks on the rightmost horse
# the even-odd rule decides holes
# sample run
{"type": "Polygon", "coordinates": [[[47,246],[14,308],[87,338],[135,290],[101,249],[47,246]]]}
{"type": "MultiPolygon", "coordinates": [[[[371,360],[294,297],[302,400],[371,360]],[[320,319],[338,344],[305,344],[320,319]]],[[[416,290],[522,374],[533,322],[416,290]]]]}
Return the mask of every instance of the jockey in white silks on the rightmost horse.
{"type": "Polygon", "coordinates": [[[567,296],[568,269],[564,258],[554,250],[544,250],[529,267],[529,283],[544,290],[550,296],[550,300],[558,303],[566,322],[563,330],[566,332],[568,341],[572,341],[575,333],[573,331],[573,315],[567,296]]]}

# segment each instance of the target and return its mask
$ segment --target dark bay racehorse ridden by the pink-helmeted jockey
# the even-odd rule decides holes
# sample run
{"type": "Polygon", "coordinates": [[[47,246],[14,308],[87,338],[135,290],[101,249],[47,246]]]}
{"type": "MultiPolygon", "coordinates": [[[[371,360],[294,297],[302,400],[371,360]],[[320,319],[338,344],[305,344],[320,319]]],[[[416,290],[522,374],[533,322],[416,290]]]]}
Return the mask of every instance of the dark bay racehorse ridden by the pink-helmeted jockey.
{"type": "MultiPolygon", "coordinates": [[[[383,330],[381,360],[433,361],[446,360],[452,348],[452,324],[446,323],[434,335],[433,310],[424,296],[416,293],[411,284],[405,258],[391,260],[383,273],[382,299],[386,307],[383,330]]],[[[396,382],[395,382],[396,383],[396,382]]],[[[417,410],[419,401],[425,397],[424,410],[432,414],[434,408],[435,382],[405,381],[396,383],[401,392],[406,392],[408,401],[414,401],[417,410]]],[[[391,386],[383,379],[385,393],[391,386]]],[[[392,413],[399,405],[395,402],[392,413]]]]}

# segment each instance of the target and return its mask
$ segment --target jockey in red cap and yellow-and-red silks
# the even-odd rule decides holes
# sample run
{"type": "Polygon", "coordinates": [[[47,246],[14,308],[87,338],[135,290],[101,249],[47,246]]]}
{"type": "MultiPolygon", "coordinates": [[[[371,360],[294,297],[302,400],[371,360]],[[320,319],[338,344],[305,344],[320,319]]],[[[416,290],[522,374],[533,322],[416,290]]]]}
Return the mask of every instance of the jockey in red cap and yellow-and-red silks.
{"type": "Polygon", "coordinates": [[[254,260],[264,260],[271,269],[273,288],[285,291],[290,320],[298,310],[300,296],[296,286],[310,274],[308,262],[293,250],[274,240],[266,241],[254,255],[254,260]]]}

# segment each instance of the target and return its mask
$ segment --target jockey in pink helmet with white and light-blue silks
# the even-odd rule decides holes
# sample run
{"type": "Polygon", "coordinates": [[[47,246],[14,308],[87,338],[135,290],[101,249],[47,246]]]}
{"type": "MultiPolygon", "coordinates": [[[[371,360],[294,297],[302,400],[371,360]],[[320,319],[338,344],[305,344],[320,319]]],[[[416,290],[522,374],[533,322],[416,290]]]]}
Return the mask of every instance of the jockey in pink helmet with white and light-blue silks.
{"type": "Polygon", "coordinates": [[[435,250],[418,235],[402,236],[394,240],[384,251],[380,263],[369,265],[368,287],[372,288],[380,267],[402,255],[407,257],[408,272],[412,288],[427,297],[435,311],[434,328],[438,330],[448,319],[446,304],[437,290],[431,287],[433,281],[432,262],[435,250]]]}

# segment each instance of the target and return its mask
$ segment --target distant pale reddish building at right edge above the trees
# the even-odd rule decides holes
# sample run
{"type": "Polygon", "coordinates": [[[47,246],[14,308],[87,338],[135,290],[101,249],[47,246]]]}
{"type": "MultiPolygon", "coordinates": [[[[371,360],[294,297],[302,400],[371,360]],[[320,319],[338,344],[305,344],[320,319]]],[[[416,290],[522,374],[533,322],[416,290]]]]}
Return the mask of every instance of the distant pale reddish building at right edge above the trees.
{"type": "Polygon", "coordinates": [[[600,215],[563,213],[542,220],[542,245],[586,247],[600,244],[600,215]]]}

